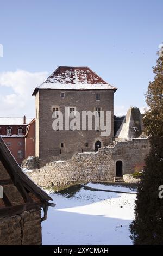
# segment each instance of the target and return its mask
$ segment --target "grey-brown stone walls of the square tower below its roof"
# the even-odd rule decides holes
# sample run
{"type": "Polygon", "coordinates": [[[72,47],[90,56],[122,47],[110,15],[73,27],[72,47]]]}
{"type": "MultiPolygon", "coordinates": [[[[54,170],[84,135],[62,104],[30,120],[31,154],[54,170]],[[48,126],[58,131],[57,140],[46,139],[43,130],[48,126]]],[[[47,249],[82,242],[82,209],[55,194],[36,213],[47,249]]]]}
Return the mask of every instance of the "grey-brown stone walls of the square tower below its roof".
{"type": "MultiPolygon", "coordinates": [[[[45,160],[45,163],[56,161],[55,158],[68,159],[71,154],[82,151],[95,151],[95,142],[101,141],[102,146],[112,142],[114,137],[113,115],[113,90],[98,90],[101,100],[96,100],[95,90],[66,90],[65,97],[61,99],[62,90],[40,90],[36,98],[36,156],[45,160]],[[76,111],[82,115],[82,111],[111,112],[111,134],[101,137],[101,132],[95,130],[54,131],[52,128],[53,108],[58,107],[64,114],[66,107],[76,107],[76,111]],[[64,147],[61,147],[61,143],[64,147]],[[86,144],[87,143],[87,144],[86,144]]],[[[71,120],[71,118],[70,118],[71,120]]],[[[65,124],[65,123],[64,123],[65,124]]],[[[82,124],[82,122],[81,122],[82,124]]]]}

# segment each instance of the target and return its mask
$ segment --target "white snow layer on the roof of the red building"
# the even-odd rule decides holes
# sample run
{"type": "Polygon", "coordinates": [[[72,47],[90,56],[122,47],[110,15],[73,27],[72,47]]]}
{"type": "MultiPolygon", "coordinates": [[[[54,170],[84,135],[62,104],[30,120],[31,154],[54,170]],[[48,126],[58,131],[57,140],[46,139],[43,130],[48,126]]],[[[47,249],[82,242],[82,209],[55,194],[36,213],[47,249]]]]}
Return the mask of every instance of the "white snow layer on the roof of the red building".
{"type": "MultiPolygon", "coordinates": [[[[33,118],[26,118],[26,124],[29,124],[33,118]]],[[[0,125],[23,125],[23,117],[0,117],[0,125]]]]}

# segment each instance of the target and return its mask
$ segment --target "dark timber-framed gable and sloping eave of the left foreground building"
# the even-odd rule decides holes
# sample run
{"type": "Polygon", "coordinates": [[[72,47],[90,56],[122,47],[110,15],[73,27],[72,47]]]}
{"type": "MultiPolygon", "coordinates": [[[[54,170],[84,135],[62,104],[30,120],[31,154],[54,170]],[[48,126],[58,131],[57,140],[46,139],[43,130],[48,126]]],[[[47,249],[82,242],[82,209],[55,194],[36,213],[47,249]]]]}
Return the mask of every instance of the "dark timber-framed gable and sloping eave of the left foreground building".
{"type": "Polygon", "coordinates": [[[39,209],[49,200],[53,200],[22,171],[2,138],[0,138],[0,185],[3,186],[4,192],[3,198],[0,199],[0,216],[39,209]]]}

